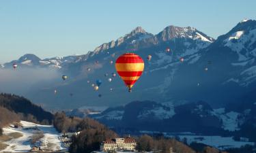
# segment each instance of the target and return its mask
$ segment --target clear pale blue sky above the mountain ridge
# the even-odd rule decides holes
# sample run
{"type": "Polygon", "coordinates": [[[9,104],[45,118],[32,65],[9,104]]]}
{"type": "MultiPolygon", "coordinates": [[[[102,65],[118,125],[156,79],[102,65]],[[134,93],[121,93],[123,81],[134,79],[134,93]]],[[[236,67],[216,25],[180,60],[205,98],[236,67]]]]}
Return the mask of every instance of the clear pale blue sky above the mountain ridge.
{"type": "Polygon", "coordinates": [[[85,54],[141,26],[169,25],[218,37],[243,18],[256,19],[255,0],[0,0],[0,63],[26,53],[40,58],[85,54]]]}

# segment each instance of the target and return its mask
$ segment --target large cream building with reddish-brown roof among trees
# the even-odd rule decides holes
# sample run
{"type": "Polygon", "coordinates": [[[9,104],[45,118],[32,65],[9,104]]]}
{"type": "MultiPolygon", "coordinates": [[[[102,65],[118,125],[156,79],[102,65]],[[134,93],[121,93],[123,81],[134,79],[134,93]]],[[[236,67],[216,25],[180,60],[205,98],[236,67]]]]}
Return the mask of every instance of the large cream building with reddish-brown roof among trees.
{"type": "Polygon", "coordinates": [[[131,137],[106,139],[100,145],[100,151],[135,151],[136,141],[131,137]]]}

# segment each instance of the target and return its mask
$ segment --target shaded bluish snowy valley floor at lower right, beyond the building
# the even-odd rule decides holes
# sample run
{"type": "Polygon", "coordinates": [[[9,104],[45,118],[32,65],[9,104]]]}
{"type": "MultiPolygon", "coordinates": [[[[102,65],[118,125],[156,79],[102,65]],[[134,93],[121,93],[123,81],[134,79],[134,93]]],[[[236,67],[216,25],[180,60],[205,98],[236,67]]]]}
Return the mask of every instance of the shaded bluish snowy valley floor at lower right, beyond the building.
{"type": "MultiPolygon", "coordinates": [[[[141,131],[141,133],[152,135],[154,131],[141,131]]],[[[227,148],[240,148],[241,146],[245,146],[246,144],[253,146],[253,142],[247,141],[235,141],[232,137],[221,137],[221,136],[205,136],[205,135],[195,135],[195,133],[162,133],[165,137],[175,137],[178,136],[180,139],[184,139],[186,137],[187,143],[197,142],[203,143],[208,146],[213,146],[218,149],[227,149],[227,148]]]]}

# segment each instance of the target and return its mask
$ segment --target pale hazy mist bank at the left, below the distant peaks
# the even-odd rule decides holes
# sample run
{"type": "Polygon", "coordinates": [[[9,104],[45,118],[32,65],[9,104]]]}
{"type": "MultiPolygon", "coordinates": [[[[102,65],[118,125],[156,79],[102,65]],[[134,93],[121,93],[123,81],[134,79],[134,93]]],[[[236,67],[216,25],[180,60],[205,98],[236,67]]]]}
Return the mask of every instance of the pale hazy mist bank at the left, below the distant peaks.
{"type": "Polygon", "coordinates": [[[43,88],[46,82],[52,82],[59,76],[56,69],[49,68],[0,69],[0,92],[23,95],[32,86],[43,88]]]}

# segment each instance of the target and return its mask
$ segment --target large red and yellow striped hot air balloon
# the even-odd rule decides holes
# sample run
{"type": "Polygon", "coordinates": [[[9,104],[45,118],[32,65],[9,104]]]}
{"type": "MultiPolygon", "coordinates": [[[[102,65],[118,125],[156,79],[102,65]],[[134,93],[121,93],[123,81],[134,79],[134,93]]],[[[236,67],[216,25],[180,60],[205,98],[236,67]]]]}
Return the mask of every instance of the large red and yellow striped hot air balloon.
{"type": "Polygon", "coordinates": [[[131,92],[132,86],[144,70],[144,61],[137,54],[126,53],[117,58],[115,69],[131,92]]]}

